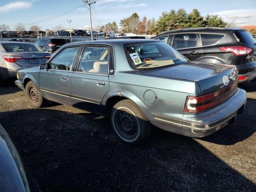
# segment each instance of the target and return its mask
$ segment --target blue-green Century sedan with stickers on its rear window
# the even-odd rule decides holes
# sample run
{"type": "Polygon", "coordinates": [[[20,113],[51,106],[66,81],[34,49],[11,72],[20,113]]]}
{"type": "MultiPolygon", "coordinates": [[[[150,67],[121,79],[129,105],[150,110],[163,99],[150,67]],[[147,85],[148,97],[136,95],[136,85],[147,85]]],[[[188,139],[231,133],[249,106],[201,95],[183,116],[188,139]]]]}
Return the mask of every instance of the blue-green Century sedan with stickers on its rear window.
{"type": "Polygon", "coordinates": [[[118,137],[141,144],[151,125],[204,137],[244,112],[235,66],[191,62],[168,44],[109,39],[64,45],[40,67],[18,71],[34,108],[44,100],[110,116],[118,137]]]}

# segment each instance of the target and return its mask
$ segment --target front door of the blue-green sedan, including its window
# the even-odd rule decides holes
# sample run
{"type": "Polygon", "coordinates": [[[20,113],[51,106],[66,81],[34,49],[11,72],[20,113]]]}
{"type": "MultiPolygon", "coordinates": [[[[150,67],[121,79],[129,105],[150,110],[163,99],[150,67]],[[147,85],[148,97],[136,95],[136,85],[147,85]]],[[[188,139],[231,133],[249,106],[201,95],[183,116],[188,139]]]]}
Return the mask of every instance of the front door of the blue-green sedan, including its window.
{"type": "Polygon", "coordinates": [[[47,99],[72,105],[70,79],[79,49],[79,46],[62,49],[48,62],[48,69],[40,70],[40,90],[47,99]]]}

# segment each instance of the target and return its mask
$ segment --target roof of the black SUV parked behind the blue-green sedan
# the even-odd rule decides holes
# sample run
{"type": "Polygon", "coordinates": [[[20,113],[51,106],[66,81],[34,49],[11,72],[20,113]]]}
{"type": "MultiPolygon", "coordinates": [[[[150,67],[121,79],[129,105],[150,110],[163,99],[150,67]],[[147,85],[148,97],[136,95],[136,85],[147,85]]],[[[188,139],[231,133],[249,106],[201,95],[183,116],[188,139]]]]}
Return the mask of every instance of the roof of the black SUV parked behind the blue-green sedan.
{"type": "Polygon", "coordinates": [[[215,27],[215,26],[207,26],[207,27],[198,27],[198,28],[181,28],[181,29],[174,29],[162,32],[158,34],[157,36],[163,35],[163,34],[169,34],[169,33],[177,33],[177,32],[237,32],[237,31],[247,31],[246,29],[240,29],[240,28],[225,28],[225,27],[215,27]]]}

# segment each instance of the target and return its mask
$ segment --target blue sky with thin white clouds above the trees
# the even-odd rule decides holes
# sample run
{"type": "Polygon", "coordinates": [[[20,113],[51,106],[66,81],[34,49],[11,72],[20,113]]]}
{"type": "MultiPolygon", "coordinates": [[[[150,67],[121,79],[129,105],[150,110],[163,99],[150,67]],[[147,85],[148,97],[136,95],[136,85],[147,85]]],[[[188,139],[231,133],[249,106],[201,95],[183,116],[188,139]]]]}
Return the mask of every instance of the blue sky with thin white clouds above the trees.
{"type": "MultiPolygon", "coordinates": [[[[0,24],[14,28],[16,23],[24,22],[28,30],[30,23],[57,16],[83,4],[82,0],[1,0],[0,24]]],[[[217,14],[227,22],[236,17],[238,26],[256,25],[256,0],[247,0],[246,3],[241,0],[96,0],[96,4],[92,5],[92,25],[113,21],[119,24],[121,19],[134,12],[141,18],[146,15],[157,19],[162,12],[178,8],[184,8],[187,12],[197,8],[203,16],[217,14]]],[[[87,29],[90,24],[88,6],[36,24],[42,30],[57,25],[69,28],[67,19],[72,20],[71,28],[87,29]]]]}

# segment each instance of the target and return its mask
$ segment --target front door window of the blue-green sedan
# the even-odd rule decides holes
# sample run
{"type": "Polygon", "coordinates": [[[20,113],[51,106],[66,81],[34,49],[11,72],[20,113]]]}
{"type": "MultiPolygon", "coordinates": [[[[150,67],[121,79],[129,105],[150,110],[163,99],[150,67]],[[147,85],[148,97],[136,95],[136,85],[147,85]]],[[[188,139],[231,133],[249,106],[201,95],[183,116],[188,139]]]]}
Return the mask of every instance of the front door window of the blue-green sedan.
{"type": "Polygon", "coordinates": [[[60,51],[50,62],[50,69],[71,71],[78,47],[66,48],[60,51]]]}

